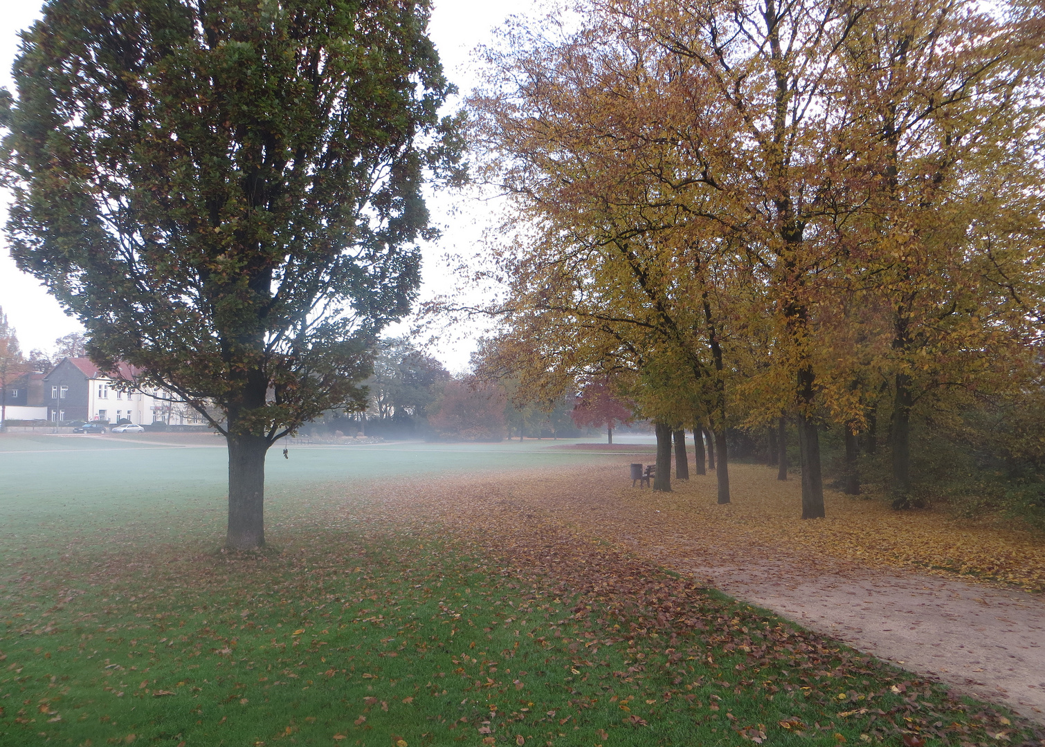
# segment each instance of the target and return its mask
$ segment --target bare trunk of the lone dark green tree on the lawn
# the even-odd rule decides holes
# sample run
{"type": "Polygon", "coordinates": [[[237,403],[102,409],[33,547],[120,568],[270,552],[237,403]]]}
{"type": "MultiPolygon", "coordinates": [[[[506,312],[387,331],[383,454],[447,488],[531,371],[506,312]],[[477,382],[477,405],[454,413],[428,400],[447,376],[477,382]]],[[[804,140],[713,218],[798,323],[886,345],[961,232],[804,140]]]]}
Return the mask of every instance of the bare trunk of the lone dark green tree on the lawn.
{"type": "Polygon", "coordinates": [[[262,436],[229,434],[229,530],[225,546],[250,550],[264,544],[264,457],[262,436]]]}

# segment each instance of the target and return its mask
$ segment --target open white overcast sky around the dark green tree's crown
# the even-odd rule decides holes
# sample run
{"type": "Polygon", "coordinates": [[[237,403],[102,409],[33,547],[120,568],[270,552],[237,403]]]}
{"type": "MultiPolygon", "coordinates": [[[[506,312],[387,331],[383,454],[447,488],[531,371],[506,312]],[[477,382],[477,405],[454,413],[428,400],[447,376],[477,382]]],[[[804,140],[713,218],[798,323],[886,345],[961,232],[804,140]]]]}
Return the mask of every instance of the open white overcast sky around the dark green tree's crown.
{"type": "MultiPolygon", "coordinates": [[[[31,0],[25,3],[0,3],[0,86],[8,90],[14,90],[10,65],[18,51],[18,32],[39,17],[41,4],[31,0]]],[[[467,92],[474,85],[469,71],[470,51],[477,45],[490,41],[490,31],[509,16],[533,15],[536,7],[534,0],[435,0],[431,36],[439,48],[449,78],[462,92],[467,92]]],[[[6,204],[7,195],[0,192],[0,225],[6,223],[6,204]]],[[[471,247],[490,219],[489,207],[468,197],[450,199],[448,195],[441,195],[437,200],[429,200],[429,209],[433,221],[443,228],[443,238],[438,243],[424,248],[422,300],[451,289],[454,278],[441,261],[442,257],[447,253],[470,254],[471,247]],[[450,207],[458,208],[452,215],[450,207]]],[[[82,330],[79,323],[67,317],[34,278],[15,266],[2,231],[0,306],[11,326],[17,329],[22,350],[26,353],[32,348],[49,351],[56,337],[82,330]]],[[[388,331],[404,334],[407,328],[408,325],[400,324],[388,331]]],[[[468,330],[457,330],[444,337],[431,352],[451,371],[461,371],[467,367],[472,348],[473,341],[468,330]]]]}

